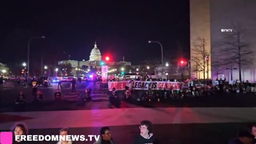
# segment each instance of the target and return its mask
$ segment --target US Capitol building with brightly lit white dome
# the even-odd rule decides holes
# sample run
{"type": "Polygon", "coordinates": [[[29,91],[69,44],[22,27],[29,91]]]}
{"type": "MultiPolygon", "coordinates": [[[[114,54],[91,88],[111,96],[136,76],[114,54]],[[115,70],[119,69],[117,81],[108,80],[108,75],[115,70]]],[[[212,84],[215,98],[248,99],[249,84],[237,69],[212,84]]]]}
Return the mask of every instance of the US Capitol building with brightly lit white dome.
{"type": "MultiPolygon", "coordinates": [[[[58,65],[63,64],[71,64],[72,68],[81,68],[82,66],[88,66],[93,68],[100,68],[100,62],[102,60],[100,50],[97,47],[97,44],[95,42],[94,47],[90,53],[90,59],[88,61],[82,60],[82,61],[76,61],[76,60],[62,60],[58,61],[58,65]]],[[[122,62],[124,65],[130,65],[131,62],[122,62]]],[[[111,65],[111,64],[110,64],[111,65]]]]}

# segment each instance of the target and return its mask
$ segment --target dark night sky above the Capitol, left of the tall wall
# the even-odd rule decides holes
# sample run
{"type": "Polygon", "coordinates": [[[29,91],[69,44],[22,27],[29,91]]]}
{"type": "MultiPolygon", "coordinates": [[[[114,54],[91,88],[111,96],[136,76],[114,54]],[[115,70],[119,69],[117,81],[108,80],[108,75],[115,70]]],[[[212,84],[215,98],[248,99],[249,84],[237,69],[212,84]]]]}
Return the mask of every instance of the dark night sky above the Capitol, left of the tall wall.
{"type": "MultiPolygon", "coordinates": [[[[71,1],[70,1],[71,2],[71,1]]],[[[189,1],[172,3],[4,3],[1,4],[0,62],[11,66],[27,60],[28,39],[31,65],[57,60],[89,60],[94,41],[102,55],[111,53],[114,61],[161,60],[183,53],[189,56],[189,1]],[[66,54],[63,54],[63,52],[66,54]],[[134,55],[139,57],[134,57],[134,55]]],[[[33,66],[32,66],[33,67],[33,66]]]]}

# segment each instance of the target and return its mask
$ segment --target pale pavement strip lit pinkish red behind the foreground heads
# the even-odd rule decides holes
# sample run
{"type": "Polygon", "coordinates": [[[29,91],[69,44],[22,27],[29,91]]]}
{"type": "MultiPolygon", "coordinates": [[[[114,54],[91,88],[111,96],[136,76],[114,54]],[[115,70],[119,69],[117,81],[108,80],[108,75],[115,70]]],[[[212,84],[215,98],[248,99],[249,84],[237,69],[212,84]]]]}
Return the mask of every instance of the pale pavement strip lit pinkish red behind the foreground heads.
{"type": "Polygon", "coordinates": [[[17,121],[25,122],[30,129],[48,129],[137,125],[143,119],[154,124],[255,122],[255,112],[256,108],[121,108],[2,113],[0,130],[13,125],[1,122],[7,116],[24,118],[17,121]]]}

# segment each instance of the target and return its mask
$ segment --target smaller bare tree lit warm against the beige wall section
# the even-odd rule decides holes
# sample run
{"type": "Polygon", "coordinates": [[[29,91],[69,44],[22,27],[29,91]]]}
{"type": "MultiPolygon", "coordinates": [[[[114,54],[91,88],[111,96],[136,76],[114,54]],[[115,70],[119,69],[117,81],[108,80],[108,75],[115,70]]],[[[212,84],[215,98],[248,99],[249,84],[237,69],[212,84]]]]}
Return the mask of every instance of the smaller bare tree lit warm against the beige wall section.
{"type": "MultiPolygon", "coordinates": [[[[194,48],[192,51],[194,52],[195,56],[191,58],[195,64],[192,66],[194,71],[202,70],[204,73],[205,79],[205,71],[207,71],[207,57],[209,57],[210,52],[205,50],[205,39],[204,38],[197,38],[197,41],[194,44],[194,48]]],[[[209,71],[207,71],[209,73],[209,71]]],[[[199,74],[200,75],[200,74],[199,74]]]]}

